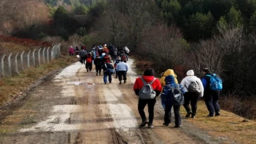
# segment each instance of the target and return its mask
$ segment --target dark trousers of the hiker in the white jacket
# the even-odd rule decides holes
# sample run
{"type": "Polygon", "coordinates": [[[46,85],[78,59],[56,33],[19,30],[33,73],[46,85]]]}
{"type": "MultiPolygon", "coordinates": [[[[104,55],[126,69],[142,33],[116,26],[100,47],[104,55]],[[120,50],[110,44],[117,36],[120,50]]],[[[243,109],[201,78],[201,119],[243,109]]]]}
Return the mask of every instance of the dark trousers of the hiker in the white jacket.
{"type": "Polygon", "coordinates": [[[186,112],[191,112],[190,105],[192,108],[192,116],[197,114],[197,101],[199,98],[200,93],[195,92],[186,92],[184,94],[184,104],[183,106],[186,109],[186,112]]]}

